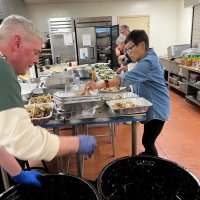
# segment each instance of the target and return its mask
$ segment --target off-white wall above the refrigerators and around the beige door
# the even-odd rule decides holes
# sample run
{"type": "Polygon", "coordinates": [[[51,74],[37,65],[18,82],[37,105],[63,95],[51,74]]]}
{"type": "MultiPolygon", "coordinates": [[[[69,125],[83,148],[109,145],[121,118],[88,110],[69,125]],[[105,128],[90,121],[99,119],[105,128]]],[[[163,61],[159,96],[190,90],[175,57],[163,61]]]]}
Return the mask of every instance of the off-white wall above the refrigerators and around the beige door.
{"type": "Polygon", "coordinates": [[[184,0],[108,0],[93,3],[30,5],[27,6],[27,13],[42,32],[48,31],[47,19],[50,17],[112,16],[114,25],[117,24],[117,16],[149,15],[150,46],[155,48],[158,55],[165,55],[170,45],[190,43],[192,9],[184,8],[184,0]]]}

